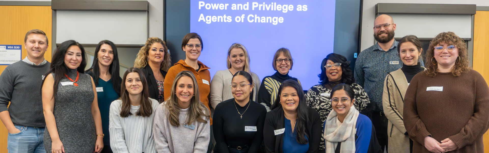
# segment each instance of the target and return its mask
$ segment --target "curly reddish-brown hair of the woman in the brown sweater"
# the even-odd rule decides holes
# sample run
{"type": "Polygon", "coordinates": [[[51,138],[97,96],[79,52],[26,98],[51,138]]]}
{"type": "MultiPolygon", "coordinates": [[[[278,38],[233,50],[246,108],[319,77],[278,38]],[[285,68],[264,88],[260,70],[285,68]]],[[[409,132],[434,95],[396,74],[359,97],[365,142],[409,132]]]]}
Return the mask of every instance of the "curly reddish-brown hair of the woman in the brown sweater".
{"type": "Polygon", "coordinates": [[[435,46],[437,46],[440,42],[457,46],[460,60],[456,59],[455,65],[451,69],[453,76],[458,77],[460,74],[462,74],[462,72],[470,69],[468,67],[468,50],[465,41],[459,36],[455,35],[454,32],[442,32],[431,40],[428,51],[426,51],[426,58],[424,60],[426,61],[426,63],[424,63],[426,66],[426,71],[423,72],[424,75],[435,77],[438,74],[438,62],[433,64],[436,59],[433,59],[433,61],[432,58],[434,56],[435,46]]]}

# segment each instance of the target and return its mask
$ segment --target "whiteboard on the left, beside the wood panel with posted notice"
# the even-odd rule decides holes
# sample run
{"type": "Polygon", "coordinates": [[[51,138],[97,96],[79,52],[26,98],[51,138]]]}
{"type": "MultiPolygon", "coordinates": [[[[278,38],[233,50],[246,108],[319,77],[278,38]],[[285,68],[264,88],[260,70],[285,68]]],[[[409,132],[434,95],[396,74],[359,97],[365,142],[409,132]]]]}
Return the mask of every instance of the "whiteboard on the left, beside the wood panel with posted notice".
{"type": "Polygon", "coordinates": [[[56,11],[56,43],[145,44],[147,25],[146,11],[56,11]]]}

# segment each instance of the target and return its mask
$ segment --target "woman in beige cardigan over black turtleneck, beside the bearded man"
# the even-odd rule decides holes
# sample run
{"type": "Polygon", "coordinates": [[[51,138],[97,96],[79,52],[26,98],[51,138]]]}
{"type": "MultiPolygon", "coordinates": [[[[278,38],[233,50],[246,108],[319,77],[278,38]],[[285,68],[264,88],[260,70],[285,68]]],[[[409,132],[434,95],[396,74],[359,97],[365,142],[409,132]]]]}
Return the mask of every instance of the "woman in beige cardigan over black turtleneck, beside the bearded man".
{"type": "Polygon", "coordinates": [[[416,74],[424,71],[424,67],[418,63],[421,58],[421,42],[414,35],[402,37],[398,44],[398,52],[402,68],[387,74],[384,81],[384,93],[382,105],[389,126],[389,148],[387,152],[412,153],[413,141],[409,139],[402,119],[404,108],[404,95],[411,79],[416,74]]]}

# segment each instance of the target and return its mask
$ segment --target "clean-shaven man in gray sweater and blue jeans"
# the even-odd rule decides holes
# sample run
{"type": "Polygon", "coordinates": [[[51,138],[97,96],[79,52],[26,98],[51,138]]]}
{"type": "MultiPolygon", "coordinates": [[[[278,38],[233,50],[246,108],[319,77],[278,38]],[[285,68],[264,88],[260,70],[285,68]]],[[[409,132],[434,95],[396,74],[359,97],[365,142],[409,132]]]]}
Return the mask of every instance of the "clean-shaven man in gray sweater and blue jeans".
{"type": "Polygon", "coordinates": [[[47,36],[42,30],[30,30],[24,46],[27,57],[0,75],[0,120],[8,129],[8,153],[46,153],[41,83],[50,66],[44,59],[47,36]]]}

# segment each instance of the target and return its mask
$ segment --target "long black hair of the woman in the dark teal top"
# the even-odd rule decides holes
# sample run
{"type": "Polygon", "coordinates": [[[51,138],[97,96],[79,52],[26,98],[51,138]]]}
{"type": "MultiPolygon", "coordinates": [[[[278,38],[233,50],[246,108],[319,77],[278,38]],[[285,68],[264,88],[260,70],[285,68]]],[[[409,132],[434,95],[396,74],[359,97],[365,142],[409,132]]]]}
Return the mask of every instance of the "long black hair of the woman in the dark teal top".
{"type": "Polygon", "coordinates": [[[121,96],[120,87],[121,87],[122,80],[119,75],[119,56],[117,55],[117,47],[115,47],[115,44],[113,42],[108,40],[102,40],[98,43],[97,48],[95,48],[95,59],[93,60],[92,66],[87,71],[85,71],[85,73],[88,73],[89,71],[93,72],[93,82],[95,83],[95,85],[98,85],[98,78],[100,77],[100,68],[98,65],[98,52],[100,51],[100,48],[104,44],[110,45],[112,51],[114,52],[112,63],[111,65],[109,65],[109,73],[112,76],[111,77],[112,87],[114,88],[117,95],[121,96]]]}

